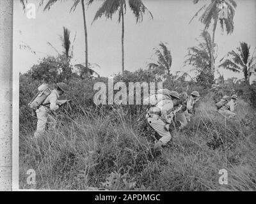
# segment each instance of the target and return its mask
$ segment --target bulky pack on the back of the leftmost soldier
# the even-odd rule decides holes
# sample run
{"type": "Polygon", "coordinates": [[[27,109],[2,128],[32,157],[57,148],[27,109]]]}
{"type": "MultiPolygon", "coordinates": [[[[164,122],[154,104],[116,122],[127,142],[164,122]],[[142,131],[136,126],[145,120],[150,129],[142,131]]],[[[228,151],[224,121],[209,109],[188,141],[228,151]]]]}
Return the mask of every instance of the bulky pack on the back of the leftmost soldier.
{"type": "Polygon", "coordinates": [[[31,101],[28,103],[29,108],[32,110],[36,110],[39,108],[42,103],[44,103],[47,96],[51,94],[51,89],[49,89],[47,84],[42,84],[40,87],[38,87],[38,92],[36,95],[31,99],[31,101]]]}

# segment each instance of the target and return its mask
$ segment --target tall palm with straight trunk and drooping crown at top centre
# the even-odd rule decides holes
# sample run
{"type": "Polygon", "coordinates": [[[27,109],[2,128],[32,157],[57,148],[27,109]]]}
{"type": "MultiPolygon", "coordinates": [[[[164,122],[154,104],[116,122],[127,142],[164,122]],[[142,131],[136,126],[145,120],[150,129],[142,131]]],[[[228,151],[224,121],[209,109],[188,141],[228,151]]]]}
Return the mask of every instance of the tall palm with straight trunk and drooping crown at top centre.
{"type": "MultiPolygon", "coordinates": [[[[129,0],[128,1],[133,14],[136,17],[136,23],[142,22],[143,14],[148,11],[147,7],[141,0],[129,0]]],[[[90,3],[89,3],[90,4],[90,3]]],[[[118,22],[122,20],[122,74],[124,73],[124,14],[126,13],[126,1],[125,0],[104,0],[104,3],[100,6],[99,10],[95,14],[93,22],[98,18],[105,15],[106,18],[112,19],[113,14],[118,11],[118,22]]],[[[153,18],[152,13],[148,11],[150,17],[153,18]]]]}

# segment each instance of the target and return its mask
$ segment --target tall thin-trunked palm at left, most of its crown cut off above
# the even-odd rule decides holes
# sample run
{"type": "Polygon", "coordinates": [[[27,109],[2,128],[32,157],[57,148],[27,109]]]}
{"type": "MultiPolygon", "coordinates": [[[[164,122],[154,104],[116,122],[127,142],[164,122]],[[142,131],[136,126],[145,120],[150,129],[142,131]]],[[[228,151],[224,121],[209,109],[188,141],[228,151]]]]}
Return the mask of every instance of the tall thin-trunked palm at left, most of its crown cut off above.
{"type": "MultiPolygon", "coordinates": [[[[22,1],[22,0],[21,0],[22,1]]],[[[44,11],[50,10],[51,6],[61,0],[48,0],[48,2],[45,4],[44,11]]],[[[88,1],[88,4],[91,4],[94,0],[86,0],[88,1]]],[[[87,36],[87,26],[86,26],[86,15],[85,15],[85,9],[84,9],[84,0],[74,0],[74,4],[70,8],[70,11],[75,11],[77,5],[81,3],[82,10],[83,10],[83,22],[84,22],[84,44],[85,44],[85,67],[88,68],[88,36],[87,36]]],[[[44,4],[44,0],[41,0],[40,5],[44,4]]]]}

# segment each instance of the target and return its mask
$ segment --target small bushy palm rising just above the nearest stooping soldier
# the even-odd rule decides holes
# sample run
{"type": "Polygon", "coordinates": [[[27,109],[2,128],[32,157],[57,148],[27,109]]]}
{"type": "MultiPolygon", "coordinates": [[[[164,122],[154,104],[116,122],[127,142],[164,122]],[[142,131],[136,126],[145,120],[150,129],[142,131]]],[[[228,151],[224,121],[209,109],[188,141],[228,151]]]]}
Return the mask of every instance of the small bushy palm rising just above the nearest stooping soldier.
{"type": "Polygon", "coordinates": [[[159,43],[159,48],[154,48],[155,54],[157,56],[157,62],[148,63],[147,66],[149,69],[163,69],[168,73],[168,76],[170,76],[170,69],[172,66],[172,55],[165,44],[161,42],[159,43]]]}

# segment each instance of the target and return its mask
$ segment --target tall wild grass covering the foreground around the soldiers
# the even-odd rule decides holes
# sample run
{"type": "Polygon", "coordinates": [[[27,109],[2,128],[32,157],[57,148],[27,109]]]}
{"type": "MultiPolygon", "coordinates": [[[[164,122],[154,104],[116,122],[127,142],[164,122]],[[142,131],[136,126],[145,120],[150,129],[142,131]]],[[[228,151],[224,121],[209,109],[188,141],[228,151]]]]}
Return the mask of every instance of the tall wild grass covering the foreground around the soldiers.
{"type": "MultiPolygon", "coordinates": [[[[38,140],[33,129],[20,130],[20,188],[159,191],[256,190],[255,110],[241,101],[236,119],[225,120],[211,101],[161,154],[150,151],[154,138],[122,108],[108,113],[81,107],[59,116],[58,128],[38,140]],[[28,169],[36,185],[26,183],[28,169]],[[219,184],[219,170],[228,184],[219,184]]],[[[143,113],[141,113],[143,114],[143,113]]]]}

